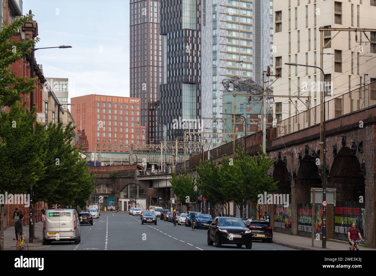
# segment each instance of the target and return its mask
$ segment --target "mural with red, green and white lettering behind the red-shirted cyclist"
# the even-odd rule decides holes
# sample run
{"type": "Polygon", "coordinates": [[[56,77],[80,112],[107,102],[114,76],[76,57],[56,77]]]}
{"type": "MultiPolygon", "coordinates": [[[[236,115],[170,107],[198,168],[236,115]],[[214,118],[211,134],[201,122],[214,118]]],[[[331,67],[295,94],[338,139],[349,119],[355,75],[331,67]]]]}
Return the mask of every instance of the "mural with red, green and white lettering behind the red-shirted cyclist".
{"type": "Polygon", "coordinates": [[[334,207],[334,238],[346,240],[347,230],[355,222],[365,240],[365,204],[357,201],[336,201],[334,207]]]}

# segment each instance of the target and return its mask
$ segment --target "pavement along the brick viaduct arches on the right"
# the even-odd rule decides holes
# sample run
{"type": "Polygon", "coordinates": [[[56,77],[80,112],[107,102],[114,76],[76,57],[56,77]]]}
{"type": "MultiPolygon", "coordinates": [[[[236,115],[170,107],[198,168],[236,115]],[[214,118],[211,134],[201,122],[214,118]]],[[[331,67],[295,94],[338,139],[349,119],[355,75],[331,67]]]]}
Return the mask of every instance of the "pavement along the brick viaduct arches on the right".
{"type": "MultiPolygon", "coordinates": [[[[273,231],[273,243],[299,250],[349,250],[349,243],[340,240],[326,240],[326,248],[322,248],[322,240],[315,240],[312,247],[312,239],[303,236],[278,233],[273,231]]],[[[360,250],[376,250],[364,246],[360,250]]]]}

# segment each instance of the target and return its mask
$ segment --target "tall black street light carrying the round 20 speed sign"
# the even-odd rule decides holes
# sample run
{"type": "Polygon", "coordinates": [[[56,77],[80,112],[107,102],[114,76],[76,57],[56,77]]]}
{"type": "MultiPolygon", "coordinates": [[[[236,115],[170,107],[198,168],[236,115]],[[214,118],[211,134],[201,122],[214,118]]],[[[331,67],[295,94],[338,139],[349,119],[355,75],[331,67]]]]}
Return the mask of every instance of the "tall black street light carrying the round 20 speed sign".
{"type": "MultiPolygon", "coordinates": [[[[324,80],[324,71],[323,69],[321,69],[320,67],[318,66],[313,66],[313,65],[305,65],[305,64],[297,64],[297,63],[285,63],[286,65],[293,65],[293,66],[305,66],[305,67],[313,67],[313,68],[318,68],[321,70],[322,74],[323,74],[323,80],[324,80]]],[[[324,81],[321,81],[321,83],[323,84],[324,86],[324,81]]],[[[320,89],[321,89],[321,83],[320,83],[320,89]]],[[[308,84],[310,85],[310,84],[308,84]]],[[[320,141],[320,144],[323,146],[323,149],[322,149],[322,154],[323,154],[323,160],[322,160],[322,173],[321,173],[321,177],[322,177],[322,181],[323,181],[323,201],[326,201],[326,162],[325,162],[325,157],[326,157],[326,141],[325,141],[325,134],[326,134],[326,131],[325,131],[325,91],[324,91],[324,87],[322,87],[322,90],[323,91],[323,100],[321,101],[321,104],[322,104],[322,110],[323,110],[323,116],[322,116],[322,120],[321,120],[321,124],[322,124],[322,132],[323,132],[323,135],[322,135],[322,138],[323,140],[320,141]]],[[[321,96],[320,96],[321,97],[321,96]]],[[[321,116],[320,116],[321,118],[321,116]]],[[[321,162],[320,162],[321,163],[321,162]]],[[[326,248],[326,206],[323,206],[323,243],[322,243],[322,248],[326,248]]]]}

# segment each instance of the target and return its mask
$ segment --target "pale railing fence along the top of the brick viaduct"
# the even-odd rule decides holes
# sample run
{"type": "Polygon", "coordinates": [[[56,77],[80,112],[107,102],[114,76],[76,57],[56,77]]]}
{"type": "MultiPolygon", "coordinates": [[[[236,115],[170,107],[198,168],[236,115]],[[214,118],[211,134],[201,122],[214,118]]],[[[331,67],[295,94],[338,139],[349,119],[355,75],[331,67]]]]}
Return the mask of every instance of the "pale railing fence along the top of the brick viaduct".
{"type": "MultiPolygon", "coordinates": [[[[319,94],[320,95],[320,94],[319,94]]],[[[325,120],[376,104],[376,81],[325,101],[325,120]]],[[[277,137],[320,124],[320,104],[277,123],[277,137]]]]}

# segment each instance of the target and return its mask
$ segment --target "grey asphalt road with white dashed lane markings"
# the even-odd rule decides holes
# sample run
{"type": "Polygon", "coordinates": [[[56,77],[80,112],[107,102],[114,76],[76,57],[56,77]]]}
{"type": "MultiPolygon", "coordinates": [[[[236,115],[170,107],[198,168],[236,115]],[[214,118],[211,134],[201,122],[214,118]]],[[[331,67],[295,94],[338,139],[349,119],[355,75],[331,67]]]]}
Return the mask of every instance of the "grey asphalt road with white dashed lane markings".
{"type": "Polygon", "coordinates": [[[54,241],[51,245],[29,250],[294,250],[273,243],[253,241],[252,249],[224,244],[208,246],[207,230],[174,226],[157,219],[157,225],[141,225],[139,216],[102,212],[94,225],[81,225],[81,243],[54,241]]]}

